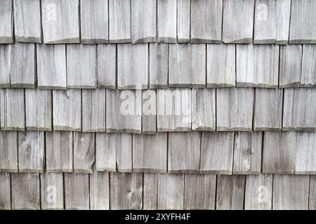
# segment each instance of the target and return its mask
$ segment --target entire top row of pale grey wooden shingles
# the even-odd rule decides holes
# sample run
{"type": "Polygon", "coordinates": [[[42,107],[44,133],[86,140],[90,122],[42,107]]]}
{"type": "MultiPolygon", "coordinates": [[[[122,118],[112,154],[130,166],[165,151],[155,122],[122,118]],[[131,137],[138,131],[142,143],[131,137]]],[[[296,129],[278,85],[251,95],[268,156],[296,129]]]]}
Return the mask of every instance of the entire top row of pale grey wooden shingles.
{"type": "Polygon", "coordinates": [[[82,43],[220,43],[222,39],[252,43],[254,37],[254,43],[286,44],[315,43],[316,34],[315,3],[308,0],[44,0],[42,6],[39,0],[30,4],[6,0],[2,4],[7,22],[0,29],[3,43],[13,41],[12,5],[15,38],[35,43],[41,42],[41,21],[44,43],[79,43],[80,37],[82,43]]]}

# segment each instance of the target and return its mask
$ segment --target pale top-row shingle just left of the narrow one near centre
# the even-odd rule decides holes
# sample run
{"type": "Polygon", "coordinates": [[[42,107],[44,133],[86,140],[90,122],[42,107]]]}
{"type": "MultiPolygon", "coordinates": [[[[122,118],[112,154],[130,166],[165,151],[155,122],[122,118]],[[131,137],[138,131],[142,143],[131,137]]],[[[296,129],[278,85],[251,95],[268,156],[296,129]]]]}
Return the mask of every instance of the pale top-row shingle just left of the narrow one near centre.
{"type": "Polygon", "coordinates": [[[157,42],[177,43],[177,1],[157,0],[157,42]]]}

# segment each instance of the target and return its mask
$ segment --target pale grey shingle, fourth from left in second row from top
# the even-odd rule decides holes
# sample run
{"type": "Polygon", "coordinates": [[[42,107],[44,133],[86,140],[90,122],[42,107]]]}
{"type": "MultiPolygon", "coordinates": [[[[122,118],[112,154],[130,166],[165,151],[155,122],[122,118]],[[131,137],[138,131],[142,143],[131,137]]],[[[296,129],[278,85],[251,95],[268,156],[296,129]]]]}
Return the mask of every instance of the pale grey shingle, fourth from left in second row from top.
{"type": "Polygon", "coordinates": [[[96,45],[67,45],[67,87],[95,88],[96,63],[96,45]]]}

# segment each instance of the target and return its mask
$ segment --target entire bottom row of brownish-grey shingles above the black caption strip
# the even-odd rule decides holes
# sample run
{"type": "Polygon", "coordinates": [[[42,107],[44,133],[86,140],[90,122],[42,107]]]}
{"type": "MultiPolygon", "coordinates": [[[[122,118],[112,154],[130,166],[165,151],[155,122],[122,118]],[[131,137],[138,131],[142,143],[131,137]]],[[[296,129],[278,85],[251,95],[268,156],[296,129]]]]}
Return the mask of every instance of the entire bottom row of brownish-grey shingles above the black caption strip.
{"type": "Polygon", "coordinates": [[[0,209],[307,210],[315,184],[283,174],[1,173],[0,209]]]}

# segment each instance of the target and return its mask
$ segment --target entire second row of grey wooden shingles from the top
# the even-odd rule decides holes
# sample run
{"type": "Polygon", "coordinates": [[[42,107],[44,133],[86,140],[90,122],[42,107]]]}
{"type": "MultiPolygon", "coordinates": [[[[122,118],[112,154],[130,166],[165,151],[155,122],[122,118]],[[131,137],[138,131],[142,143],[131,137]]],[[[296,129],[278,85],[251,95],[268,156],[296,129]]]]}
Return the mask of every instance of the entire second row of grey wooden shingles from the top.
{"type": "Polygon", "coordinates": [[[35,48],[15,43],[0,45],[0,50],[0,87],[34,88],[36,82],[45,90],[316,85],[315,45],[279,49],[278,45],[150,43],[35,48]]]}

